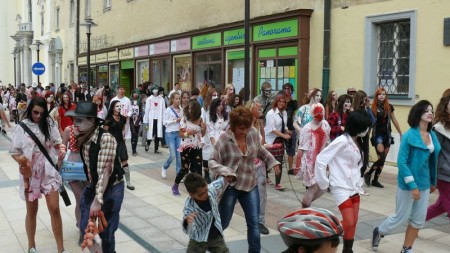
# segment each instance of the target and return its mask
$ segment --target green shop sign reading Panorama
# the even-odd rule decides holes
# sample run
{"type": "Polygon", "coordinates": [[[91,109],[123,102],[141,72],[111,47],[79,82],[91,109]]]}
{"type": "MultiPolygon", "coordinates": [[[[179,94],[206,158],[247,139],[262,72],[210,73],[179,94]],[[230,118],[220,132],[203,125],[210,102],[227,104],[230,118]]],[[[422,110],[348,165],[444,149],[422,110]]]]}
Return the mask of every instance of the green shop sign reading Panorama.
{"type": "Polygon", "coordinates": [[[298,20],[257,25],[253,27],[253,41],[264,41],[298,36],[298,20]]]}

